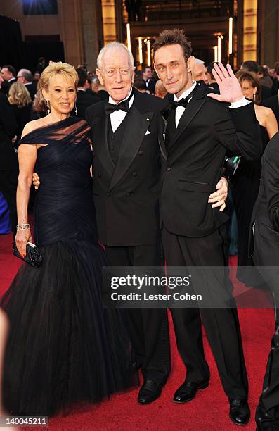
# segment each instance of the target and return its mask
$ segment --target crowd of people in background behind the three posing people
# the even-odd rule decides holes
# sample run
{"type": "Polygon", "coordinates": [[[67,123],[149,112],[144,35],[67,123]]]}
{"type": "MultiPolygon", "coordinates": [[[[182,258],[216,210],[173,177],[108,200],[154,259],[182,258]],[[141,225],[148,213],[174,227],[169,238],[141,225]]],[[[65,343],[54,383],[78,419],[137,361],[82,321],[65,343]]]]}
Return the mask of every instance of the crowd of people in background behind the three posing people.
{"type": "MultiPolygon", "coordinates": [[[[52,61],[49,61],[49,63],[52,63],[52,61]]],[[[2,214],[2,216],[0,215],[0,233],[6,232],[9,225],[7,221],[7,203],[12,218],[11,229],[13,229],[15,223],[13,214],[15,214],[15,188],[18,175],[16,151],[22,130],[30,120],[36,120],[47,115],[46,101],[39,88],[39,78],[46,65],[45,58],[41,57],[33,72],[22,68],[17,73],[13,65],[1,66],[0,104],[10,118],[8,122],[4,120],[6,115],[0,119],[1,133],[5,135],[6,139],[6,146],[3,146],[1,150],[1,158],[4,160],[5,155],[7,157],[7,151],[13,152],[8,157],[8,159],[13,158],[13,164],[3,163],[3,166],[0,167],[0,206],[2,214]],[[13,127],[11,127],[11,124],[13,124],[13,127]],[[3,196],[5,199],[3,199],[3,196]]],[[[214,69],[214,62],[206,66],[204,61],[195,58],[193,79],[195,81],[204,81],[209,88],[218,92],[219,86],[214,79],[212,69],[214,69]]],[[[86,70],[84,65],[79,65],[76,70],[79,76],[79,85],[77,102],[72,115],[85,118],[86,108],[101,100],[108,101],[109,95],[105,87],[101,85],[95,72],[86,70]]],[[[256,61],[245,61],[238,72],[238,79],[245,97],[254,99],[257,119],[261,125],[264,145],[266,145],[278,130],[279,125],[279,62],[275,63],[274,68],[270,68],[268,65],[259,65],[256,61]]],[[[164,85],[162,85],[151,66],[136,68],[134,88],[138,92],[154,94],[161,99],[164,99],[167,95],[164,85]]],[[[254,162],[249,163],[242,159],[238,172],[231,178],[233,196],[231,196],[230,192],[228,199],[228,212],[231,215],[231,254],[238,252],[239,267],[252,266],[251,259],[247,258],[248,239],[245,232],[247,232],[247,225],[257,197],[260,174],[260,161],[255,167],[254,162]],[[257,180],[255,181],[256,177],[257,180]],[[246,192],[240,187],[243,180],[245,180],[246,192]],[[245,196],[242,196],[243,193],[245,196]],[[247,205],[247,199],[249,200],[249,205],[247,205]],[[233,223],[235,213],[232,205],[236,209],[238,232],[235,223],[233,223]],[[236,245],[237,238],[238,246],[236,245]]],[[[247,272],[245,271],[245,273],[247,272]]],[[[240,272],[238,272],[238,277],[240,281],[247,282],[248,285],[254,284],[253,280],[247,280],[240,272]]]]}

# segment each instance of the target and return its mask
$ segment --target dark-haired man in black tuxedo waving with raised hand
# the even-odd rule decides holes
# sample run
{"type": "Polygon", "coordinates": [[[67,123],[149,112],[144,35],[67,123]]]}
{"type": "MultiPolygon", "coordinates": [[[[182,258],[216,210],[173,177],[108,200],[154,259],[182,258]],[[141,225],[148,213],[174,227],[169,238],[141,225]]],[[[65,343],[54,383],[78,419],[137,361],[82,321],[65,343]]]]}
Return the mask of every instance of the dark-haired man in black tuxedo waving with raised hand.
{"type": "MultiPolygon", "coordinates": [[[[182,403],[195,398],[209,384],[209,368],[202,346],[202,323],[229,399],[230,418],[238,425],[249,420],[247,374],[235,301],[226,285],[224,232],[226,215],[212,210],[207,196],[219,180],[226,151],[247,159],[261,156],[261,142],[252,102],[243,97],[231,67],[214,65],[220,94],[192,79],[195,58],[182,30],[164,30],[153,45],[155,70],[172,94],[173,111],[162,146],[164,174],[161,194],[162,239],[167,266],[209,267],[192,279],[196,292],[207,286],[212,308],[173,308],[179,353],[187,368],[186,380],[174,394],[182,403]],[[211,94],[210,94],[211,93],[211,94]],[[214,280],[214,282],[210,282],[214,280]],[[215,296],[214,296],[215,295],[215,296]],[[214,308],[218,298],[234,308],[214,308]]],[[[215,306],[216,307],[216,306],[215,306]]],[[[216,422],[218,422],[216,418],[216,422]]]]}

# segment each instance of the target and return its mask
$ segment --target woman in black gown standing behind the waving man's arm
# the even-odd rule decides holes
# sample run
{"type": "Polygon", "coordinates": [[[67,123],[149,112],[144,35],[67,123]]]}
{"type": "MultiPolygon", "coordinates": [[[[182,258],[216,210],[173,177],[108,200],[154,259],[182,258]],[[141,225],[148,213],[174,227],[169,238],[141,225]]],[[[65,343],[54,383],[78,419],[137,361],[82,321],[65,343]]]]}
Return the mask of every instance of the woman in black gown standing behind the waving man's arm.
{"type": "MultiPolygon", "coordinates": [[[[242,93],[247,99],[254,100],[256,118],[259,121],[263,149],[268,141],[278,132],[278,125],[270,108],[259,106],[261,103],[261,89],[259,80],[254,73],[240,70],[236,77],[242,87],[242,93]]],[[[238,271],[240,282],[248,286],[259,286],[261,277],[253,266],[252,258],[248,252],[249,225],[254,203],[259,192],[261,178],[261,159],[247,161],[242,158],[235,175],[231,177],[233,202],[238,220],[238,271]],[[245,268],[246,267],[246,268],[245,268]]]]}

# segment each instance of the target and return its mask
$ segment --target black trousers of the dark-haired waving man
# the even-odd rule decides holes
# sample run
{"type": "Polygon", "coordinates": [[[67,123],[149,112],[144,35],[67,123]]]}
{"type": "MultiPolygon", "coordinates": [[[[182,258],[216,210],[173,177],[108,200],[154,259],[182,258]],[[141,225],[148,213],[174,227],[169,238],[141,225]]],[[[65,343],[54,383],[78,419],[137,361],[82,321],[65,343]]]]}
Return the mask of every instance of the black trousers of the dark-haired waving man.
{"type": "MultiPolygon", "coordinates": [[[[167,266],[224,266],[222,226],[206,237],[183,237],[171,234],[163,226],[162,239],[167,266]]],[[[226,299],[228,268],[214,278],[214,294],[226,299]]],[[[197,279],[196,279],[197,280],[197,279]]],[[[199,284],[200,285],[200,284],[199,284]]],[[[195,291],[195,279],[192,279],[195,291]]],[[[207,292],[209,294],[209,292],[207,292]]],[[[231,304],[234,299],[231,298],[231,304]]],[[[228,398],[246,399],[247,373],[242,351],[240,325],[236,308],[173,308],[171,310],[179,354],[187,368],[187,381],[209,379],[209,368],[202,345],[202,323],[228,398]]]]}

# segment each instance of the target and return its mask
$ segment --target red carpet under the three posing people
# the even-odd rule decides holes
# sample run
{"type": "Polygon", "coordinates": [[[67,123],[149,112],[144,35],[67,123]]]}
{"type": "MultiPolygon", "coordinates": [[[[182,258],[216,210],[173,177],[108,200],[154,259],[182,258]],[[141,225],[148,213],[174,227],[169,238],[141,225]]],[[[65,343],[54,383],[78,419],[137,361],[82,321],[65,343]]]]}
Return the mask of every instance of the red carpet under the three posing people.
{"type": "MultiPolygon", "coordinates": [[[[235,265],[235,258],[231,264],[235,265]]],[[[0,236],[0,294],[13,279],[20,260],[11,254],[11,235],[0,236]]],[[[233,278],[235,270],[232,268],[233,278]]],[[[254,413],[261,392],[266,359],[273,334],[273,311],[240,310],[240,325],[245,349],[249,377],[249,404],[252,419],[245,430],[255,430],[254,413]]],[[[170,319],[171,320],[171,319],[170,319]]],[[[138,389],[126,394],[112,396],[99,406],[84,406],[70,416],[50,420],[49,430],[187,430],[219,431],[237,430],[228,418],[228,402],[221,387],[212,353],[205,339],[205,354],[211,370],[210,385],[200,391],[197,398],[188,404],[174,404],[171,399],[176,387],[183,382],[185,372],[176,353],[174,331],[171,327],[172,372],[162,396],[150,406],[138,406],[138,389]]],[[[31,430],[31,428],[28,428],[31,430]]],[[[34,428],[38,430],[38,428],[34,428]]]]}

